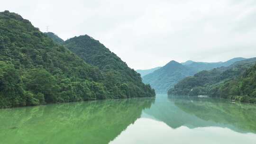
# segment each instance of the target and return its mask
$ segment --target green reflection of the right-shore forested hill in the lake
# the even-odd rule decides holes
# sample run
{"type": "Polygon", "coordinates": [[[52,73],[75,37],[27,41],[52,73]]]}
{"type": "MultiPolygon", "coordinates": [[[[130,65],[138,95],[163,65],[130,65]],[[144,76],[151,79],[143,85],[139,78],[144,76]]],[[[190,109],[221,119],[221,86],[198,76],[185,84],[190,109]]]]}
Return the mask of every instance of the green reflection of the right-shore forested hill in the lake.
{"type": "Polygon", "coordinates": [[[255,104],[197,97],[169,97],[169,100],[187,114],[209,122],[201,126],[222,126],[239,133],[256,133],[255,104]]]}

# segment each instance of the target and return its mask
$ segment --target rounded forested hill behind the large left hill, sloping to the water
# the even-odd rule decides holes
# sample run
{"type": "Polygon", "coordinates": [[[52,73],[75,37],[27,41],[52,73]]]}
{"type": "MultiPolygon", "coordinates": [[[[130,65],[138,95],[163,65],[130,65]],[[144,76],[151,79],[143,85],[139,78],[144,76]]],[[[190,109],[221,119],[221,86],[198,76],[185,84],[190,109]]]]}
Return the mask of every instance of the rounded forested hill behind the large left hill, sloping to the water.
{"type": "Polygon", "coordinates": [[[155,96],[155,90],[144,84],[140,74],[130,69],[116,54],[90,36],[76,36],[64,46],[86,63],[98,67],[105,78],[105,86],[114,97],[130,98],[155,96]]]}

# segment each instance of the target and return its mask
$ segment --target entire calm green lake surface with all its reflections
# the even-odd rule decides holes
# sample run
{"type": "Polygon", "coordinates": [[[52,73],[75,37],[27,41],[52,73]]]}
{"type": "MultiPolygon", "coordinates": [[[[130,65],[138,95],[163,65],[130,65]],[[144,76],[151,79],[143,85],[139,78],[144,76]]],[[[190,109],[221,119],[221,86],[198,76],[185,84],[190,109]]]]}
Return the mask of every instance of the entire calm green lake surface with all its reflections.
{"type": "Polygon", "coordinates": [[[108,143],[256,144],[256,105],[157,95],[0,109],[0,144],[108,143]]]}

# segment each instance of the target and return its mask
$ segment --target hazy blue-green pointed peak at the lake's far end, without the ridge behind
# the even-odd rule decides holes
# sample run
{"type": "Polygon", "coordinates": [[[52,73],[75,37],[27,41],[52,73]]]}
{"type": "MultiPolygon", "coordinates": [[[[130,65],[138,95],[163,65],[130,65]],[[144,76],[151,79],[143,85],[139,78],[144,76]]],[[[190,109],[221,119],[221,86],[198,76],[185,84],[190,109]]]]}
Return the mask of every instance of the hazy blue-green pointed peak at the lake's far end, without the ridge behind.
{"type": "Polygon", "coordinates": [[[149,83],[156,93],[166,93],[177,81],[193,75],[195,71],[181,63],[171,61],[162,68],[143,77],[144,83],[149,83]]]}

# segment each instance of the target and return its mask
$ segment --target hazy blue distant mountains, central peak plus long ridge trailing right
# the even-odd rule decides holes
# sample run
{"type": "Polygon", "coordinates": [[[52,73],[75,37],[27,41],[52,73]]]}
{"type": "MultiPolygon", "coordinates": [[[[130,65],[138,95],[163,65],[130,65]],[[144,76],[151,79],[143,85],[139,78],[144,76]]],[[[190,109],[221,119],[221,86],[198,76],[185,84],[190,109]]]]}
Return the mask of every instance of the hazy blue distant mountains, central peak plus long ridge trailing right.
{"type": "Polygon", "coordinates": [[[170,88],[187,76],[192,76],[203,70],[211,70],[217,67],[229,66],[232,63],[245,60],[245,58],[233,58],[227,62],[205,63],[187,61],[178,63],[171,61],[160,69],[143,77],[144,83],[149,83],[156,93],[167,93],[170,88]]]}

